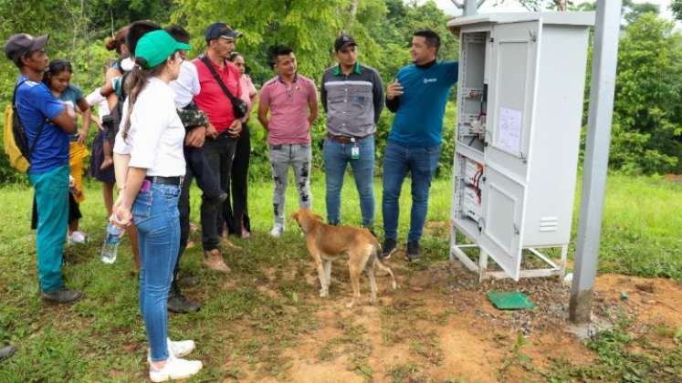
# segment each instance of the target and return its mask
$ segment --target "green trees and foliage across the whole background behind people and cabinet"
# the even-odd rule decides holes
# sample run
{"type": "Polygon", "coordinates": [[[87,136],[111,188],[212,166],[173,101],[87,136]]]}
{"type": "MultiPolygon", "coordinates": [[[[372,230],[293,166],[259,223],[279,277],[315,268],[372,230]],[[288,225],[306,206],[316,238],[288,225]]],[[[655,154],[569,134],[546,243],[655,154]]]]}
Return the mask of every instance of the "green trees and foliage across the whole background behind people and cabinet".
{"type": "MultiPolygon", "coordinates": [[[[384,83],[393,80],[400,67],[409,62],[409,43],[418,28],[432,28],[443,39],[441,59],[456,59],[458,41],[446,29],[446,16],[433,0],[359,1],[351,14],[351,0],[61,0],[20,2],[0,0],[0,39],[22,31],[34,35],[50,33],[47,53],[64,57],[75,67],[74,83],[89,92],[100,86],[103,63],[115,54],[107,51],[104,39],[116,29],[140,18],[164,25],[170,21],[191,32],[193,54],[205,48],[204,29],[223,20],[245,32],[237,50],[247,59],[251,77],[262,84],[274,73],[268,66],[268,47],[292,46],[299,58],[299,72],[320,81],[326,67],[335,64],[333,40],[347,31],[358,41],[360,61],[375,67],[384,83]]],[[[527,0],[530,9],[555,6],[553,0],[527,0]]],[[[572,10],[591,10],[593,3],[567,2],[572,10]]],[[[674,1],[679,15],[682,3],[674,1]]],[[[619,50],[616,78],[611,166],[629,173],[682,172],[682,35],[673,24],[656,17],[657,5],[624,1],[624,32],[619,50]]],[[[16,67],[0,60],[0,110],[4,110],[16,79],[16,67]]],[[[588,74],[589,81],[589,74],[588,74]]],[[[589,90],[586,92],[589,95],[589,90]]],[[[443,155],[439,174],[447,174],[452,163],[455,92],[446,109],[443,155]]],[[[585,106],[589,99],[585,99],[585,106]]],[[[252,177],[269,174],[266,132],[251,119],[252,177]]],[[[393,122],[393,113],[384,110],[377,127],[377,168],[381,168],[383,148],[393,122]]],[[[94,132],[94,129],[91,129],[94,132]]],[[[324,116],[312,128],[314,163],[320,166],[320,140],[324,137],[324,116]]],[[[23,181],[7,167],[0,155],[0,181],[23,181]]]]}

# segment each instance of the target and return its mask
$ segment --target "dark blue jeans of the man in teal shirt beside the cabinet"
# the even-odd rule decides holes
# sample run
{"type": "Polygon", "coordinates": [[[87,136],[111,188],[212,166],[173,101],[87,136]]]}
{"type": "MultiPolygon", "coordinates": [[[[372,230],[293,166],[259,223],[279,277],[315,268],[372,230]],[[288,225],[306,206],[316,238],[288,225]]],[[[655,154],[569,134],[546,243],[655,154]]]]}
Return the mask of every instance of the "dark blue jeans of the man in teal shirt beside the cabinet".
{"type": "Polygon", "coordinates": [[[412,212],[407,242],[418,242],[422,237],[428,190],[440,158],[440,145],[409,148],[393,141],[386,143],[383,155],[383,233],[385,239],[398,237],[400,191],[407,172],[412,175],[412,212]]]}

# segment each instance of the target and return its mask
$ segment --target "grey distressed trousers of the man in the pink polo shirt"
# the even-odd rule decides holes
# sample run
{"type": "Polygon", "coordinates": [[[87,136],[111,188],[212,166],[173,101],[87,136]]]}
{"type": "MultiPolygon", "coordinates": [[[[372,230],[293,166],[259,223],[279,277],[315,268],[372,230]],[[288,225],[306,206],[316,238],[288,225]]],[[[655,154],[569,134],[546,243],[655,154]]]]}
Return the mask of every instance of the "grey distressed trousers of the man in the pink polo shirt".
{"type": "Polygon", "coordinates": [[[270,145],[270,165],[272,180],[275,181],[275,192],[272,206],[275,212],[275,224],[284,227],[284,204],[289,181],[289,165],[294,170],[296,189],[299,191],[299,207],[310,209],[310,161],[312,150],[310,144],[270,145]]]}

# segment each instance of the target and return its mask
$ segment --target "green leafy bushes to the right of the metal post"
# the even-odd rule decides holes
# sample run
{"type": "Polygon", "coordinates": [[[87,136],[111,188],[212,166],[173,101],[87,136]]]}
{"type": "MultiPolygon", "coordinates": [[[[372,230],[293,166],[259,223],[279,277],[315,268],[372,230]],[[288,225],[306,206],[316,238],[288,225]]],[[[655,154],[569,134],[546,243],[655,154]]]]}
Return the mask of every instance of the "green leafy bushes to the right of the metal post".
{"type": "Polygon", "coordinates": [[[624,29],[618,51],[611,165],[680,172],[682,35],[653,13],[624,29]]]}

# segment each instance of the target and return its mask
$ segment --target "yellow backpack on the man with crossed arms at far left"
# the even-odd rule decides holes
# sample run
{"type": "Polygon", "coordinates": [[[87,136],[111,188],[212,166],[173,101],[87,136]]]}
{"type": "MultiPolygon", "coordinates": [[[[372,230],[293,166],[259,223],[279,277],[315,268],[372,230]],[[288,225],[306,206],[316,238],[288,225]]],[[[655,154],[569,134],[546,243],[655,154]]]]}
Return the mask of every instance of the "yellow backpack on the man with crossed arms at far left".
{"type": "Polygon", "coordinates": [[[37,131],[36,140],[29,145],[28,137],[26,136],[26,129],[19,119],[19,112],[16,110],[16,90],[26,82],[21,81],[16,84],[14,94],[12,95],[12,104],[5,108],[5,131],[3,137],[3,145],[5,153],[9,158],[9,164],[16,169],[16,171],[25,173],[30,166],[31,151],[36,148],[37,140],[43,133],[47,119],[43,122],[37,131]]]}

